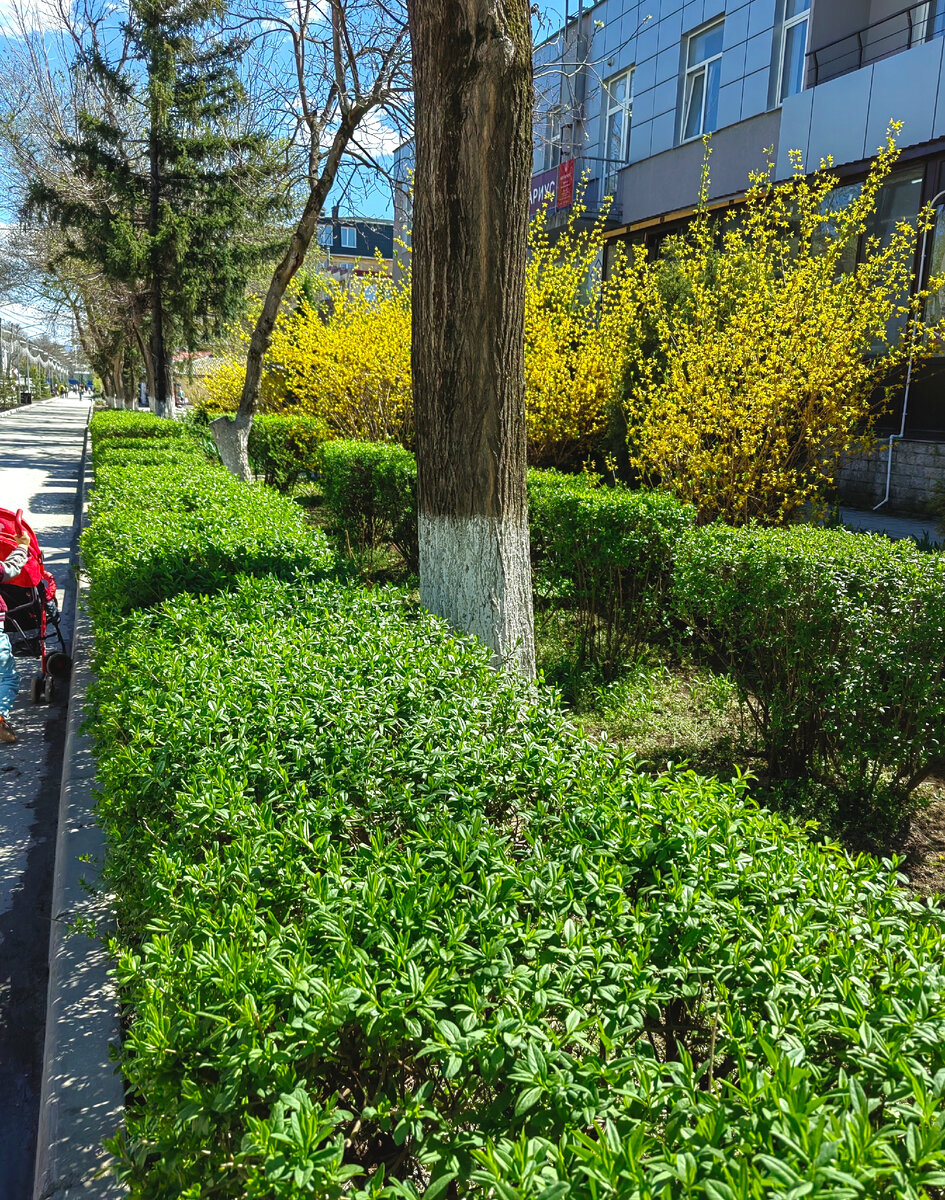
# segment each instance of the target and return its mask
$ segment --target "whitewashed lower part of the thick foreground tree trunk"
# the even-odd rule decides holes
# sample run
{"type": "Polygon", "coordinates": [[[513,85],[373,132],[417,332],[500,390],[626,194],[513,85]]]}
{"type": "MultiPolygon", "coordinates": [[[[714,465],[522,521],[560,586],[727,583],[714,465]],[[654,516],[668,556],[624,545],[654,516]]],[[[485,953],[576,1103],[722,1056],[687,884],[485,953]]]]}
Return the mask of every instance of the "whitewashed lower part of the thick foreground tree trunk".
{"type": "Polygon", "coordinates": [[[528,521],[420,514],[420,602],[535,678],[528,521]]]}

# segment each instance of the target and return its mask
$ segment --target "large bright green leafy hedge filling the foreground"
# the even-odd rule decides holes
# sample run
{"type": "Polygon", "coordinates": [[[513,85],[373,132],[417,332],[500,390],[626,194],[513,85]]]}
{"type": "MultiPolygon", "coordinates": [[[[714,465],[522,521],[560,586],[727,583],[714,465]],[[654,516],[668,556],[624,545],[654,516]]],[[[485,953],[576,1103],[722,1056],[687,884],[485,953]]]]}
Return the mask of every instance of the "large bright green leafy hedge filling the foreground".
{"type": "Polygon", "coordinates": [[[396,592],[116,596],[96,668],[133,1196],[943,1194],[945,916],[887,865],[396,592]]]}

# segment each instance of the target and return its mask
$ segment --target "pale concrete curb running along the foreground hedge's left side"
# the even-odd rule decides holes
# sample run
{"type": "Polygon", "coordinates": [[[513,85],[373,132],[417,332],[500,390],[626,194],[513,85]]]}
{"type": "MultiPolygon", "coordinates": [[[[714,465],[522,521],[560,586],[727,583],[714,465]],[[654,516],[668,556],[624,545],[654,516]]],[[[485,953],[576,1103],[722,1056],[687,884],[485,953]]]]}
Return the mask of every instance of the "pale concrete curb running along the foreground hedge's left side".
{"type": "MultiPolygon", "coordinates": [[[[77,533],[85,520],[88,451],[86,427],[77,533]]],[[[103,1174],[108,1154],[102,1140],[119,1128],[125,1109],[121,1078],[109,1060],[109,1045],[118,1045],[121,1034],[118,997],[108,976],[109,959],[100,941],[84,932],[70,931],[77,920],[94,923],[102,930],[112,919],[108,899],[86,886],[86,881],[95,883],[97,864],[104,854],[104,838],[94,812],[91,739],[82,733],[91,678],[90,623],[83,604],[85,590],[79,572],[50,910],[49,989],[34,1200],[113,1200],[127,1194],[118,1180],[103,1174]]]]}

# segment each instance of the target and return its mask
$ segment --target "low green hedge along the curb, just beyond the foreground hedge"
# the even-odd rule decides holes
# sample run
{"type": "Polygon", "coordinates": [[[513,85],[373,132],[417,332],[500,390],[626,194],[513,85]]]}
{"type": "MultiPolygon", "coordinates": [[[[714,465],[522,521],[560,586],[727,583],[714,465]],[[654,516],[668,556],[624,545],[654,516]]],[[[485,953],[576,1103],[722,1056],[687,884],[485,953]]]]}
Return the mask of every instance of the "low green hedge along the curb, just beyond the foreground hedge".
{"type": "MultiPolygon", "coordinates": [[[[107,442],[96,444],[98,437],[116,437],[120,422],[114,418],[125,414],[101,415],[109,421],[102,433],[100,416],[94,419],[98,466],[91,522],[82,538],[96,618],[179,592],[212,594],[236,571],[290,580],[313,564],[320,570],[331,565],[324,535],[291,500],[266,487],[246,487],[199,448],[181,455],[176,442],[155,439],[154,463],[125,445],[106,450],[107,442]],[[163,456],[158,445],[168,448],[163,456]]],[[[130,414],[130,427],[140,427],[140,420],[130,414]]],[[[152,434],[149,430],[142,437],[152,434]]]]}

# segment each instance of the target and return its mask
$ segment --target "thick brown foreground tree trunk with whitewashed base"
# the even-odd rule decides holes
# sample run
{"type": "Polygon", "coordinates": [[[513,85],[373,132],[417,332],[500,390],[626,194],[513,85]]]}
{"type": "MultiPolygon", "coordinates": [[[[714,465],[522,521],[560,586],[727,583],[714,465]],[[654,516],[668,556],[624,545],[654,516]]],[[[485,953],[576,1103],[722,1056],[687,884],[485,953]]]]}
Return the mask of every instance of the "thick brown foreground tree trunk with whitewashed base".
{"type": "Polygon", "coordinates": [[[410,0],[420,595],[535,674],[525,493],[528,0],[410,0]]]}

